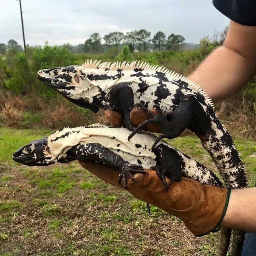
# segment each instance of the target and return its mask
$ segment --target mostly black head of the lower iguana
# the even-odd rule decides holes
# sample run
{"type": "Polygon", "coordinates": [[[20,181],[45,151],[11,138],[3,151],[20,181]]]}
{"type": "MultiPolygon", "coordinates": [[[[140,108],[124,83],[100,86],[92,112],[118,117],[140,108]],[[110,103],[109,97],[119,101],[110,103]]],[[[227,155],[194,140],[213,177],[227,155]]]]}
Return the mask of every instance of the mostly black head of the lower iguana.
{"type": "Polygon", "coordinates": [[[13,153],[12,159],[28,166],[46,166],[57,162],[48,147],[48,137],[34,140],[13,153]]]}

